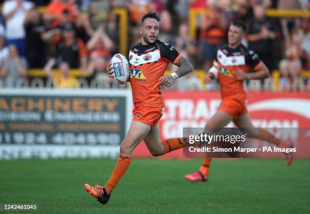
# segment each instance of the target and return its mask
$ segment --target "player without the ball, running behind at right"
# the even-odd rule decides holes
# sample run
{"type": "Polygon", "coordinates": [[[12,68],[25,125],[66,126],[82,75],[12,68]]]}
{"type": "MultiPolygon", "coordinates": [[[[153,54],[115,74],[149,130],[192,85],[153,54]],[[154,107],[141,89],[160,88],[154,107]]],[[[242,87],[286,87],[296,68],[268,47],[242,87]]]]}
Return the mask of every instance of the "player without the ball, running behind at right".
{"type": "MultiPolygon", "coordinates": [[[[247,27],[241,21],[232,22],[228,30],[228,44],[219,47],[213,66],[205,76],[206,83],[218,78],[222,101],[217,112],[206,125],[206,131],[211,135],[217,133],[230,121],[234,121],[239,129],[249,138],[256,138],[275,144],[280,148],[292,148],[293,144],[276,138],[266,130],[253,126],[247,110],[246,92],[243,89],[245,79],[263,79],[269,76],[268,68],[259,59],[256,53],[241,44],[247,27]],[[255,72],[248,73],[252,67],[255,72]]],[[[285,153],[287,165],[292,162],[292,154],[285,153]]],[[[207,181],[211,158],[204,158],[198,172],[186,175],[185,179],[191,182],[207,181]]]]}

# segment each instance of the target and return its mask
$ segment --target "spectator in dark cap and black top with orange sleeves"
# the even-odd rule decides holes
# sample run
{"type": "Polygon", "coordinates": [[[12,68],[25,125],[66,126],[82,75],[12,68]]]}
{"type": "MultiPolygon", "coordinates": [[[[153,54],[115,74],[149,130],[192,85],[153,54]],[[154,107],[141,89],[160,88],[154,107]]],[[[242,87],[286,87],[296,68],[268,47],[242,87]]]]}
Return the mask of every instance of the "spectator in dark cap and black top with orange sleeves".
{"type": "Polygon", "coordinates": [[[85,71],[87,67],[87,51],[83,40],[75,37],[74,23],[62,26],[61,36],[53,39],[52,50],[57,64],[67,62],[70,68],[80,68],[85,71]]]}

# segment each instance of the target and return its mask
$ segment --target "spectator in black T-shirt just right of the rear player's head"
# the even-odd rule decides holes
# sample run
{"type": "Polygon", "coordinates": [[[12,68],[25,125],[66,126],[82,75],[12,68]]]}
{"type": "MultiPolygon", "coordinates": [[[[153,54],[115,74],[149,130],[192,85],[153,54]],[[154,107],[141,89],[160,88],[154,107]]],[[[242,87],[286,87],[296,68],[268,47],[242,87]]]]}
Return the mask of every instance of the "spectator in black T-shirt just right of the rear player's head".
{"type": "Polygon", "coordinates": [[[267,68],[272,71],[274,69],[273,40],[280,35],[276,33],[273,21],[265,16],[263,5],[255,5],[253,12],[254,18],[249,22],[249,32],[246,36],[249,49],[256,52],[267,68]]]}

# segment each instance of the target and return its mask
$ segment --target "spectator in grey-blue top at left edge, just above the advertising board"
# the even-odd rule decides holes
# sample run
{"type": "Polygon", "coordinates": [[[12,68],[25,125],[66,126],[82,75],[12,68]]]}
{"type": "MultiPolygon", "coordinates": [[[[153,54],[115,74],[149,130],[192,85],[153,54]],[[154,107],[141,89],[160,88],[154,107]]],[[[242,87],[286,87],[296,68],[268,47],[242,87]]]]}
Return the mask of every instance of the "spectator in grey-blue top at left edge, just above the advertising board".
{"type": "Polygon", "coordinates": [[[27,75],[27,63],[23,57],[19,57],[15,45],[9,46],[9,58],[0,64],[0,76],[5,78],[7,88],[15,88],[19,77],[27,75]]]}

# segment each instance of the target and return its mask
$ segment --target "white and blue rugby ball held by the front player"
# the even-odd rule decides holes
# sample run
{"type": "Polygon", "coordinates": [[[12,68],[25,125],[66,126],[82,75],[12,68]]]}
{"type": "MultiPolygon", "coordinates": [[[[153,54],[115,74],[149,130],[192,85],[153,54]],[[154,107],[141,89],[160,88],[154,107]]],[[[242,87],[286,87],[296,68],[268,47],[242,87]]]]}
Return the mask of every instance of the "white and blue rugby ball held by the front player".
{"type": "Polygon", "coordinates": [[[115,54],[111,59],[114,70],[114,80],[119,84],[125,84],[130,76],[129,63],[122,54],[115,54]]]}

